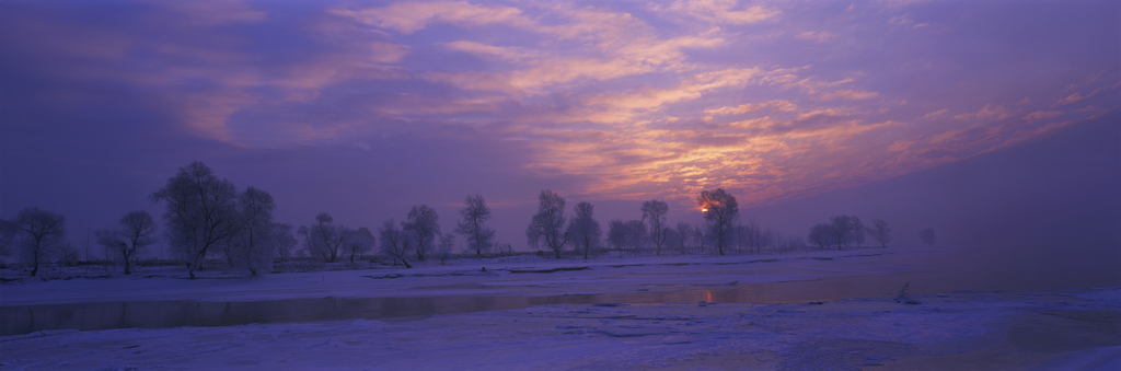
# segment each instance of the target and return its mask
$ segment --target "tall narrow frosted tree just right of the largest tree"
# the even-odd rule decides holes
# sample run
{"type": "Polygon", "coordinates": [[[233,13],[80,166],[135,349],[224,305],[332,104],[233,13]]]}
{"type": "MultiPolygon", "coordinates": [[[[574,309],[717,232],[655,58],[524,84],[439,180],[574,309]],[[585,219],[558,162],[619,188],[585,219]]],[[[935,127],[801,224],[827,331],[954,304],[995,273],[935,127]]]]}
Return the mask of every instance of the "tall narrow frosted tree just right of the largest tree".
{"type": "Polygon", "coordinates": [[[272,260],[276,258],[275,244],[269,241],[274,235],[272,211],[276,203],[268,192],[247,187],[238,196],[241,214],[241,228],[234,235],[235,244],[244,254],[244,262],[253,276],[272,271],[272,260]]]}

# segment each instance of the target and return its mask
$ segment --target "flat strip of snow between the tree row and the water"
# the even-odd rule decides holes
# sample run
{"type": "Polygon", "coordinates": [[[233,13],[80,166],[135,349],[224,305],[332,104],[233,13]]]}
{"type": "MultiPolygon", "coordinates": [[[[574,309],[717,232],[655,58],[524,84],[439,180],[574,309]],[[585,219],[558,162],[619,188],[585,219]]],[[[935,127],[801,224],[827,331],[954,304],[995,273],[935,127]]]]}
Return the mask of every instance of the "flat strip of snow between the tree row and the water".
{"type": "MultiPolygon", "coordinates": [[[[90,302],[200,300],[250,302],[309,297],[416,297],[437,295],[548,296],[606,293],[677,291],[729,284],[806,281],[853,275],[892,275],[921,268],[888,261],[862,263],[890,252],[818,251],[789,256],[647,257],[555,260],[537,257],[453,260],[415,269],[379,268],[247,277],[244,272],[203,271],[184,279],[168,270],[158,277],[26,281],[3,285],[4,306],[90,302]],[[873,257],[867,257],[873,256],[873,257]],[[834,260],[818,260],[834,259],[834,260]],[[845,260],[846,265],[837,265],[845,260]],[[583,268],[554,273],[511,272],[583,268]],[[487,268],[487,271],[482,271],[487,268]],[[448,285],[454,287],[450,288],[448,285]]],[[[149,275],[151,276],[151,275],[149,275]]],[[[733,284],[733,285],[734,285],[733,284]]]]}

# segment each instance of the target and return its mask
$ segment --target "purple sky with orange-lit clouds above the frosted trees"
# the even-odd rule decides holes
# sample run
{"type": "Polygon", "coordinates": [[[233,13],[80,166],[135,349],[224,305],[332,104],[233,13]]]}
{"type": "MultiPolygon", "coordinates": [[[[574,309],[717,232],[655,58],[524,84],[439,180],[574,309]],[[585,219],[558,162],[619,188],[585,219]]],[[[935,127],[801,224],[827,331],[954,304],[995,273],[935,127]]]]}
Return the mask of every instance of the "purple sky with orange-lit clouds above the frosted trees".
{"type": "Polygon", "coordinates": [[[84,240],[201,160],[296,225],[481,194],[524,248],[546,188],[696,223],[1117,124],[1119,66],[1115,1],[6,1],[0,217],[84,240]]]}

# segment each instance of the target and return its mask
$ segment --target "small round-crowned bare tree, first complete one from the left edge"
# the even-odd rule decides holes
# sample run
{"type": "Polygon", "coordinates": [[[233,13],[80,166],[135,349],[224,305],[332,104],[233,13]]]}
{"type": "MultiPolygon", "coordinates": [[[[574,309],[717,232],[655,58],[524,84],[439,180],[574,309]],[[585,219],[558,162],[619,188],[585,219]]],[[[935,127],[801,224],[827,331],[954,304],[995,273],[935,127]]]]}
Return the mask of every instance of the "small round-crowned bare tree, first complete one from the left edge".
{"type": "Polygon", "coordinates": [[[31,265],[31,277],[39,272],[39,265],[62,247],[66,238],[66,217],[38,207],[24,208],[16,214],[16,245],[24,263],[31,265]]]}

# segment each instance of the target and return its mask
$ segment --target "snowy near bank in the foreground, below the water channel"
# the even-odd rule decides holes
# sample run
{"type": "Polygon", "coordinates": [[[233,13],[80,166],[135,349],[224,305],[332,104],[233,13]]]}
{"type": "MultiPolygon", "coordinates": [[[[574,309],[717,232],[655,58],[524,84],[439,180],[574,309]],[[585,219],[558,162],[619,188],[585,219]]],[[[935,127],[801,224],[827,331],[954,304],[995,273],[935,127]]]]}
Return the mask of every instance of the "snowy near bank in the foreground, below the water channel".
{"type": "Polygon", "coordinates": [[[1121,289],[822,304],[545,305],[0,337],[9,370],[1117,370],[1121,289]]]}

